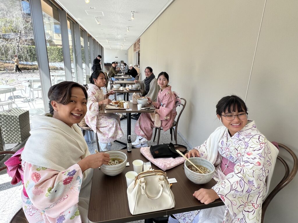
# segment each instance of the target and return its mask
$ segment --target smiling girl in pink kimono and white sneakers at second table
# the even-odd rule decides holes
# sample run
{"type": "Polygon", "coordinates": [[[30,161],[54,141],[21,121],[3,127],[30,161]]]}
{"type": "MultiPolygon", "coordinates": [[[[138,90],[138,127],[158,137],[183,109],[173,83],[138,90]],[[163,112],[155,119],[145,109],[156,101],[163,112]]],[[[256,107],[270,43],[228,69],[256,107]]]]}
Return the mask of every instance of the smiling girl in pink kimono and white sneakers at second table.
{"type": "MultiPolygon", "coordinates": [[[[148,98],[148,103],[152,104],[156,109],[155,113],[159,115],[161,126],[164,131],[171,128],[173,121],[177,115],[176,112],[176,94],[172,92],[171,86],[168,86],[169,75],[166,72],[159,73],[157,77],[157,84],[160,90],[157,95],[157,102],[148,98]]],[[[151,119],[149,113],[141,113],[136,122],[134,131],[137,134],[136,141],[132,143],[134,147],[148,147],[148,140],[152,138],[154,121],[151,119]]]]}

